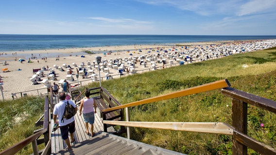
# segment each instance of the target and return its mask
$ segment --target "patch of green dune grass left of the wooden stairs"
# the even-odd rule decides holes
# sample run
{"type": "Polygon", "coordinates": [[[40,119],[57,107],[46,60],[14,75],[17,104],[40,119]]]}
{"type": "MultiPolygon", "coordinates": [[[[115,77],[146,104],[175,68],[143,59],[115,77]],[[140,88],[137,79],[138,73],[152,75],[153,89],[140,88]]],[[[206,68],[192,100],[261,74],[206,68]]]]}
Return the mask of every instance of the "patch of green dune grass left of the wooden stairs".
{"type": "MultiPolygon", "coordinates": [[[[35,122],[43,115],[44,99],[22,97],[18,100],[0,102],[0,151],[34,134],[35,122]]],[[[18,154],[33,153],[31,144],[18,154]]]]}

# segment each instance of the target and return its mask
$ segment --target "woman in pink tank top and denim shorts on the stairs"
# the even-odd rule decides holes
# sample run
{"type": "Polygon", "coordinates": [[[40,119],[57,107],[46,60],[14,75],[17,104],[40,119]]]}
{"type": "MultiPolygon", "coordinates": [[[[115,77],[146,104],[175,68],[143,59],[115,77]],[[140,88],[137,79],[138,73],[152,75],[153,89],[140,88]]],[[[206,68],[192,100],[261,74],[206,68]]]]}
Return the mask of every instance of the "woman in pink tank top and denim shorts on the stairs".
{"type": "Polygon", "coordinates": [[[94,136],[94,121],[95,121],[95,113],[96,111],[96,103],[94,98],[90,98],[90,91],[86,90],[85,92],[86,99],[82,99],[81,106],[80,106],[80,115],[83,113],[85,126],[86,126],[86,134],[89,135],[89,128],[92,133],[92,137],[94,136]],[[88,128],[89,123],[89,128],[88,128]]]}

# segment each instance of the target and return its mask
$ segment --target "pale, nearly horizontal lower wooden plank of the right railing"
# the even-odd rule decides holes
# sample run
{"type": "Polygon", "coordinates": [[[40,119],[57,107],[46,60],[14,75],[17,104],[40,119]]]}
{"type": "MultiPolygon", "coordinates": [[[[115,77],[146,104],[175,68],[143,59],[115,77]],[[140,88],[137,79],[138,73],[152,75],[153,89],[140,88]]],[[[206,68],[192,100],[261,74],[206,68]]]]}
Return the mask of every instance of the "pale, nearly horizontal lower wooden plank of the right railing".
{"type": "Polygon", "coordinates": [[[114,124],[133,127],[144,127],[153,129],[165,129],[176,131],[191,131],[213,134],[233,135],[234,128],[225,123],[215,122],[125,122],[125,121],[103,121],[104,124],[114,124]]]}

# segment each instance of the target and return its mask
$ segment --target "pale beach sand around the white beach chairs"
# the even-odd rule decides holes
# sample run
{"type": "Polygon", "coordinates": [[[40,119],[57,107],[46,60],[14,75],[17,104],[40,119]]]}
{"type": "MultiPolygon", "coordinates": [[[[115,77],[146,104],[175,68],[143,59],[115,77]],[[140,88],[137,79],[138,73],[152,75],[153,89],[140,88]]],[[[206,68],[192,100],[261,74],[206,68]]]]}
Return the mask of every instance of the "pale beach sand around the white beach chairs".
{"type": "MultiPolygon", "coordinates": [[[[224,41],[225,42],[225,41],[224,41]]],[[[221,42],[216,42],[216,43],[179,43],[178,45],[182,45],[182,46],[199,46],[202,45],[203,47],[208,46],[208,45],[214,45],[214,44],[221,44],[221,42]]],[[[229,43],[231,44],[231,43],[229,43]]],[[[228,44],[225,44],[225,46],[228,46],[228,44]]],[[[37,95],[40,93],[47,93],[47,89],[44,86],[44,84],[41,83],[41,81],[38,81],[39,84],[36,85],[32,85],[32,82],[30,80],[30,78],[32,78],[33,76],[33,69],[37,69],[37,68],[41,68],[42,66],[45,66],[45,68],[47,68],[47,65],[51,68],[53,68],[53,65],[57,65],[57,66],[62,66],[64,63],[67,65],[70,65],[73,69],[73,78],[74,81],[72,81],[74,83],[74,85],[77,82],[77,78],[75,76],[76,74],[76,68],[77,67],[73,67],[72,63],[76,63],[78,66],[81,62],[85,63],[85,68],[87,68],[87,62],[91,62],[91,64],[93,64],[93,61],[95,61],[95,56],[101,56],[102,57],[102,61],[104,61],[105,59],[107,61],[109,61],[109,59],[115,59],[115,58],[122,58],[124,59],[129,58],[129,57],[139,57],[141,55],[154,55],[157,54],[157,47],[159,48],[163,48],[163,49],[172,49],[172,46],[160,46],[160,45],[132,45],[132,46],[117,46],[117,47],[86,47],[86,48],[66,48],[66,49],[47,49],[47,50],[25,50],[25,51],[17,51],[14,52],[14,54],[11,54],[10,52],[8,54],[3,54],[0,55],[0,69],[1,69],[1,73],[0,76],[2,77],[3,81],[3,95],[4,95],[4,99],[12,99],[12,93],[17,93],[17,97],[20,97],[22,94],[24,95],[24,93],[20,93],[20,92],[25,92],[25,91],[31,91],[31,90],[35,90],[32,92],[25,92],[27,95],[37,95]],[[152,51],[152,49],[150,50],[150,48],[155,49],[155,51],[152,51]],[[138,49],[141,49],[142,51],[139,52],[138,49]],[[101,51],[101,52],[106,52],[108,53],[108,51],[113,51],[111,54],[106,54],[104,55],[103,53],[98,53],[96,52],[96,54],[86,54],[85,58],[81,58],[80,55],[76,56],[75,53],[80,53],[82,51],[85,50],[89,50],[89,51],[101,51]],[[129,52],[127,50],[130,50],[129,52]],[[117,51],[117,52],[114,52],[117,51]],[[148,51],[151,51],[150,53],[148,51]],[[16,54],[15,54],[16,53],[16,54]],[[31,59],[33,56],[36,56],[36,59],[31,59]],[[132,54],[132,55],[130,55],[132,54]],[[39,57],[40,55],[40,57],[39,57]],[[42,58],[45,58],[47,55],[52,55],[54,57],[52,58],[47,58],[47,60],[42,60],[42,58]],[[59,61],[56,60],[56,57],[58,57],[59,55],[59,61]],[[72,55],[72,56],[70,56],[72,55]],[[23,59],[25,59],[25,62],[19,62],[18,60],[22,57],[23,59]],[[32,63],[28,63],[28,60],[33,61],[32,63]],[[4,62],[7,61],[8,65],[4,65],[4,62]],[[39,61],[39,62],[38,62],[39,61]],[[3,72],[2,69],[3,68],[8,68],[9,72],[3,72]],[[20,69],[20,70],[18,70],[20,69]],[[43,90],[38,90],[37,89],[43,89],[43,90]]],[[[175,49],[178,49],[178,52],[184,51],[183,48],[181,48],[181,46],[174,46],[175,49]]],[[[169,51],[171,52],[171,51],[169,51]]],[[[161,53],[161,52],[160,52],[161,53]]],[[[162,52],[163,53],[163,52],[162,52]]],[[[182,61],[182,60],[181,60],[182,61]]],[[[169,63],[169,60],[167,61],[167,63],[169,63]]],[[[173,63],[177,63],[176,61],[174,61],[173,63]]],[[[156,63],[156,67],[160,67],[162,66],[162,63],[156,63]]],[[[148,62],[147,67],[142,67],[142,65],[140,65],[139,63],[135,64],[135,70],[142,70],[142,69],[148,69],[151,68],[150,63],[148,62]]],[[[49,71],[46,70],[44,71],[44,77],[42,77],[41,79],[47,79],[46,74],[49,71]]],[[[94,71],[95,74],[99,74],[98,70],[94,71]]],[[[49,82],[53,83],[56,82],[58,83],[60,79],[66,79],[67,76],[67,71],[65,69],[65,71],[59,71],[58,69],[55,69],[55,73],[56,73],[56,78],[57,80],[52,81],[50,80],[49,82]]],[[[126,72],[124,72],[124,74],[127,74],[126,72]]],[[[105,73],[103,71],[101,71],[101,77],[104,77],[105,73]]],[[[110,75],[118,75],[117,70],[115,69],[111,69],[110,68],[110,75]]],[[[118,76],[120,77],[120,76],[118,76]]],[[[99,78],[99,77],[97,77],[99,78]]],[[[86,85],[89,82],[92,82],[91,78],[78,78],[79,81],[83,81],[83,80],[87,80],[90,79],[86,82],[82,82],[82,85],[86,85]]],[[[71,81],[69,81],[69,83],[72,83],[71,81]]],[[[60,86],[60,90],[62,91],[62,88],[60,86]]],[[[0,99],[2,99],[2,96],[0,97],[0,99]]]]}

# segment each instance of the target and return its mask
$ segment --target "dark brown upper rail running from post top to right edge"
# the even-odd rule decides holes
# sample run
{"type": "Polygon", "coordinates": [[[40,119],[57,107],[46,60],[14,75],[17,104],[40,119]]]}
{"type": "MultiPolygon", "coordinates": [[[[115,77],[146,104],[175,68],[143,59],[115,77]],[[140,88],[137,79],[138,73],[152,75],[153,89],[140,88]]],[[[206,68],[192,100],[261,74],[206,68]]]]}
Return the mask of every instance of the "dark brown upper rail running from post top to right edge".
{"type": "Polygon", "coordinates": [[[243,102],[257,106],[261,109],[265,109],[276,113],[276,101],[263,98],[251,93],[242,92],[240,90],[237,90],[231,87],[222,89],[222,93],[225,94],[226,96],[239,99],[243,102]]]}

